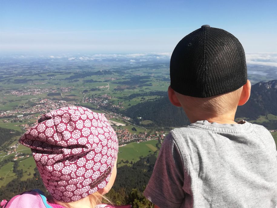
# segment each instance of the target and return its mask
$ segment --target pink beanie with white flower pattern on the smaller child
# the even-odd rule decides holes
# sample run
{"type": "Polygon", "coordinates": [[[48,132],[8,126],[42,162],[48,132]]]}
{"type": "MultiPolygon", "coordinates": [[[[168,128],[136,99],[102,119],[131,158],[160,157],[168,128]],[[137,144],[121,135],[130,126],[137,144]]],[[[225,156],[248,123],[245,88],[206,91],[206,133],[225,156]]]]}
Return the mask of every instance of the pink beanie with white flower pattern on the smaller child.
{"type": "Polygon", "coordinates": [[[117,136],[104,114],[64,107],[43,115],[19,142],[31,148],[54,199],[72,202],[104,188],[117,158],[117,136]]]}

